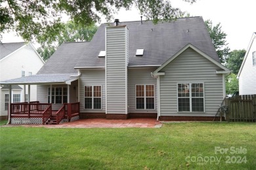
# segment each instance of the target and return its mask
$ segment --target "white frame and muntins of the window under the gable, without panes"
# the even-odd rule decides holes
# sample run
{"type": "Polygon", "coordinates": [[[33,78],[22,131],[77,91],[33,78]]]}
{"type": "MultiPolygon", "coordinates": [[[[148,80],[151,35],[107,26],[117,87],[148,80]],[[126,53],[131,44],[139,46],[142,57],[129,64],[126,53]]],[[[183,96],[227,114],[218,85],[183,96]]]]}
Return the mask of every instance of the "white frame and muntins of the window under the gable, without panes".
{"type": "Polygon", "coordinates": [[[177,112],[180,112],[180,113],[186,113],[186,112],[198,112],[198,113],[204,113],[205,112],[205,84],[204,82],[179,82],[177,83],[177,87],[176,87],[176,90],[177,90],[177,112]],[[182,97],[179,97],[179,84],[189,84],[189,97],[183,97],[183,98],[188,98],[189,99],[189,104],[190,104],[190,109],[189,111],[179,111],[179,99],[182,98],[182,97]],[[202,96],[199,96],[199,97],[196,97],[196,96],[192,96],[192,84],[202,84],[203,85],[203,97],[202,96]],[[203,111],[200,112],[200,111],[193,111],[192,109],[192,99],[203,99],[203,111]]]}

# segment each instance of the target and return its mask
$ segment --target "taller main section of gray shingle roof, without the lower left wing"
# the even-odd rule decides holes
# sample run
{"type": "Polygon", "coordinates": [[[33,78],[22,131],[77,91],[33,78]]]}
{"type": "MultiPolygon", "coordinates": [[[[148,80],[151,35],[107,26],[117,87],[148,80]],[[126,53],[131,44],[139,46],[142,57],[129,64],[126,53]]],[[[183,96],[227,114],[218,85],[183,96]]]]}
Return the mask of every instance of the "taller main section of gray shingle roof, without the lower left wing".
{"type": "MultiPolygon", "coordinates": [[[[120,22],[119,25],[127,25],[129,29],[129,66],[161,65],[188,43],[219,61],[202,17],[180,18],[158,24],[151,21],[142,24],[140,21],[120,22]],[[138,48],[144,49],[142,57],[135,57],[138,48]]],[[[105,27],[108,26],[100,25],[75,67],[104,66],[104,58],[97,56],[98,52],[105,50],[105,27]]]]}

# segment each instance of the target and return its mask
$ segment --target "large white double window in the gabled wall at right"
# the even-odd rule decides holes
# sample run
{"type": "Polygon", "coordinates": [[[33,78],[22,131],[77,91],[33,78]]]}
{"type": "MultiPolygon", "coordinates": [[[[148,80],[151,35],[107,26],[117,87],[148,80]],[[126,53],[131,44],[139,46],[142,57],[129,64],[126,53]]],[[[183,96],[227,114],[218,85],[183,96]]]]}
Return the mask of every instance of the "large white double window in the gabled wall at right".
{"type": "Polygon", "coordinates": [[[179,112],[204,112],[203,83],[182,83],[177,88],[179,112]]]}

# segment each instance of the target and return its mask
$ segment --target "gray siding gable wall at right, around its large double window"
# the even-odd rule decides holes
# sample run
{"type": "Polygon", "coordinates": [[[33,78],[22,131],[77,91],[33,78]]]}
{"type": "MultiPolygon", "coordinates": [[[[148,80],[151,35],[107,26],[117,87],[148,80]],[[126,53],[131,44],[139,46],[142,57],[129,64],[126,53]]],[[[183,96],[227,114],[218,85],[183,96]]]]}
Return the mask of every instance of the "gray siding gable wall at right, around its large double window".
{"type": "Polygon", "coordinates": [[[188,48],[161,71],[161,116],[214,116],[223,101],[223,76],[208,59],[188,48]],[[177,83],[204,83],[205,112],[177,112],[177,83]]]}

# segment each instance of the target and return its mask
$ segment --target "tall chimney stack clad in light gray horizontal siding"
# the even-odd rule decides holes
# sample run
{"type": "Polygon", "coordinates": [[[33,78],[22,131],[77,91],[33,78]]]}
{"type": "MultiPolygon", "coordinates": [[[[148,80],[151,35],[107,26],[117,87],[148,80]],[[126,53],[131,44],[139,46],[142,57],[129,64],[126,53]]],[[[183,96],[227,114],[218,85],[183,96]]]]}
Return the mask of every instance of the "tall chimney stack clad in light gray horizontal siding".
{"type": "Polygon", "coordinates": [[[106,28],[107,114],[127,113],[127,32],[127,27],[106,28]]]}

